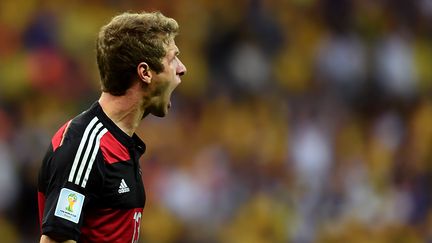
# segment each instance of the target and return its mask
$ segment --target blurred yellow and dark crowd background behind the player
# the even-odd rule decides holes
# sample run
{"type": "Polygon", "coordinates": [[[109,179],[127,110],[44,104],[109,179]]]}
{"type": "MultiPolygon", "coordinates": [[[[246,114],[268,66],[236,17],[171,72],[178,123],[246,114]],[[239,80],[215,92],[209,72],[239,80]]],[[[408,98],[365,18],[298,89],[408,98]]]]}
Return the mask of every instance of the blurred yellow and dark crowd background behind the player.
{"type": "Polygon", "coordinates": [[[38,242],[42,156],[125,10],[174,17],[188,68],[137,132],[141,243],[432,242],[432,0],[0,1],[1,242],[38,242]]]}

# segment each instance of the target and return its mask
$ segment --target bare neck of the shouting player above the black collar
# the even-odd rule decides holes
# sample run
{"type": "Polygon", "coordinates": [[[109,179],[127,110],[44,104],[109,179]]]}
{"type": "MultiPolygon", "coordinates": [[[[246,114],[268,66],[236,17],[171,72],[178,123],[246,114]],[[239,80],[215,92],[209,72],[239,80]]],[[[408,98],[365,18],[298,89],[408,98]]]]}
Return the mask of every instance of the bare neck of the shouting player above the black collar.
{"type": "Polygon", "coordinates": [[[144,115],[142,102],[139,93],[133,89],[127,90],[122,96],[102,92],[99,98],[104,113],[129,136],[135,133],[144,115]]]}

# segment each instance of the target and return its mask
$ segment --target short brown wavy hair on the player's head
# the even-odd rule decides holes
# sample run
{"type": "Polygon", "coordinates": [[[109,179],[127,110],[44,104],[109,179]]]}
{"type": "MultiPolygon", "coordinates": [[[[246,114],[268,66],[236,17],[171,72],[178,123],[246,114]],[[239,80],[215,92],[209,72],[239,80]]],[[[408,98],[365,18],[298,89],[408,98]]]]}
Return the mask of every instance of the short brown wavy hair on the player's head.
{"type": "Polygon", "coordinates": [[[122,13],[99,32],[96,57],[102,91],[124,95],[136,78],[136,68],[146,62],[163,71],[165,46],[178,33],[178,24],[160,12],[122,13]]]}

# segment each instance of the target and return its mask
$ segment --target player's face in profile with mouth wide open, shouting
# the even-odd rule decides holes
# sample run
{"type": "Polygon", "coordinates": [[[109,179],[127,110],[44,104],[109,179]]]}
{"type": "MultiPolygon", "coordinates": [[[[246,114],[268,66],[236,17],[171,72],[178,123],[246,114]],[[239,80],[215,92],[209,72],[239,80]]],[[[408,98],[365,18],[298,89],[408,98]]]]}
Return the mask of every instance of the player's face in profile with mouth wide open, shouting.
{"type": "Polygon", "coordinates": [[[186,67],[180,61],[179,49],[174,40],[166,47],[166,55],[162,60],[164,70],[159,73],[153,73],[152,85],[154,93],[151,99],[151,114],[163,117],[168,114],[171,107],[171,93],[180,84],[180,76],[186,73],[186,67]]]}

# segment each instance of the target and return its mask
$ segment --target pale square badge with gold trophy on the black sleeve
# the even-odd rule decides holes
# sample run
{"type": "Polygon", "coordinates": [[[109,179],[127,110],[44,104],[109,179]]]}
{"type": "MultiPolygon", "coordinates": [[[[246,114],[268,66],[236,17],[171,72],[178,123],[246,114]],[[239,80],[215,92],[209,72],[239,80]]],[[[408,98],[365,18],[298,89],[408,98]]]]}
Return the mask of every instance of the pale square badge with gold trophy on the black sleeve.
{"type": "Polygon", "coordinates": [[[62,188],[54,215],[78,223],[85,196],[79,192],[62,188]]]}

